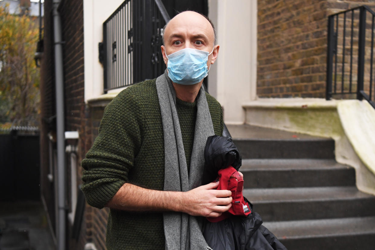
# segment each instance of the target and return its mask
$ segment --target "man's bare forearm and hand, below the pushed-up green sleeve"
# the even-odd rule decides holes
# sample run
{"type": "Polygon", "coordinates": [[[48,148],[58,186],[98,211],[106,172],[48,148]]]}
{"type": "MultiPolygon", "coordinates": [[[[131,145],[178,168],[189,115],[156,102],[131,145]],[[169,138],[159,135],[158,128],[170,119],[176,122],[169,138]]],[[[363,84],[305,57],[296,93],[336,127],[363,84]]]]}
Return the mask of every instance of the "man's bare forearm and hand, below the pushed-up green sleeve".
{"type": "Polygon", "coordinates": [[[229,190],[216,190],[219,183],[209,183],[188,192],[145,189],[125,183],[106,207],[126,211],[175,211],[193,216],[217,217],[231,207],[229,190]]]}

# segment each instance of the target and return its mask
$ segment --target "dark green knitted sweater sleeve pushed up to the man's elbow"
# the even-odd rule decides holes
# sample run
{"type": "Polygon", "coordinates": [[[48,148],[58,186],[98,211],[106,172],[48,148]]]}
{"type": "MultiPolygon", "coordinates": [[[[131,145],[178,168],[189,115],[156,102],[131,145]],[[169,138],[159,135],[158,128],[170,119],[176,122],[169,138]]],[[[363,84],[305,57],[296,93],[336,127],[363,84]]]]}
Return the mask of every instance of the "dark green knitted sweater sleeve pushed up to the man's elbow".
{"type": "Polygon", "coordinates": [[[81,164],[82,191],[89,205],[103,208],[128,181],[141,146],[141,118],[131,91],[118,94],[105,108],[98,137],[81,164]],[[127,93],[130,92],[130,93],[127,93]]]}

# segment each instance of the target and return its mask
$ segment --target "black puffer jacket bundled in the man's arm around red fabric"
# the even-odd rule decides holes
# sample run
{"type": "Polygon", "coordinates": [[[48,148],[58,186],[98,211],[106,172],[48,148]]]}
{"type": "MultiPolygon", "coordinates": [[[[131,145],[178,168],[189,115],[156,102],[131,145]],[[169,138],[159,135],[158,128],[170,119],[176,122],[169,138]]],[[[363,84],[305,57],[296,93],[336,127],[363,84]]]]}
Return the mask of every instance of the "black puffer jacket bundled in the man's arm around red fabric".
{"type": "MultiPolygon", "coordinates": [[[[204,181],[216,178],[220,168],[233,166],[237,171],[241,166],[241,156],[229,137],[210,136],[204,149],[204,181]]],[[[231,216],[220,222],[205,220],[203,236],[213,250],[287,250],[286,247],[262,225],[262,218],[253,210],[247,217],[231,216]]]]}

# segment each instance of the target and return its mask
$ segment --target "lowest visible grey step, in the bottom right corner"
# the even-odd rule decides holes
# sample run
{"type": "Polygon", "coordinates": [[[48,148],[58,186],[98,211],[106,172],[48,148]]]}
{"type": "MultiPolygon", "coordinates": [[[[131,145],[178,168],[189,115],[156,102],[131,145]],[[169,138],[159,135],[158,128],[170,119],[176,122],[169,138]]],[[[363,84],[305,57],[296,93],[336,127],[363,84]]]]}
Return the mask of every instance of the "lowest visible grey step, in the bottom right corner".
{"type": "Polygon", "coordinates": [[[288,250],[375,249],[375,217],[263,223],[288,250]]]}

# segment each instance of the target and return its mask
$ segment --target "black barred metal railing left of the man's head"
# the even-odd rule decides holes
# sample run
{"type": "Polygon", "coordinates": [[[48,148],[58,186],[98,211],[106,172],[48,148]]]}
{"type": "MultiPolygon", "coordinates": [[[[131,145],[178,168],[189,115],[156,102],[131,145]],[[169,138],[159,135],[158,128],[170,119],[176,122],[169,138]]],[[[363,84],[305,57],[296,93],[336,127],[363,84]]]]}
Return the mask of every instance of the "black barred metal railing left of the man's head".
{"type": "Polygon", "coordinates": [[[99,61],[105,92],[164,72],[160,45],[169,19],[161,0],[125,0],[103,23],[99,61]]]}

